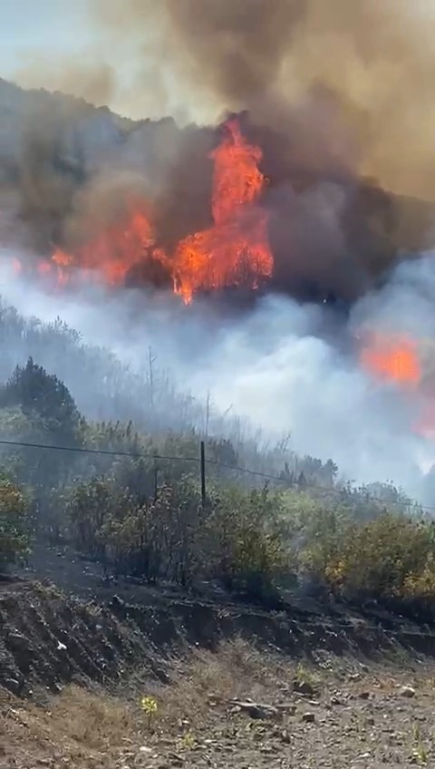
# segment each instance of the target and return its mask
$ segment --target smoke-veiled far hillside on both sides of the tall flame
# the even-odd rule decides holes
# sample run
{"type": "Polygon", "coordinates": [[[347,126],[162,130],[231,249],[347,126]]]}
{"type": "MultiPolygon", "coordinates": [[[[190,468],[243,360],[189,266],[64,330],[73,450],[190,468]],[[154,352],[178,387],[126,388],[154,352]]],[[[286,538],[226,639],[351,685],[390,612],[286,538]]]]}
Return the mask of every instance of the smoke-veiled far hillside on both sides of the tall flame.
{"type": "MultiPolygon", "coordinates": [[[[247,138],[263,151],[262,170],[268,180],[265,202],[275,212],[270,234],[274,287],[314,298],[319,291],[332,290],[352,300],[362,290],[361,269],[377,279],[402,252],[433,244],[431,202],[394,196],[381,190],[376,180],[355,178],[352,171],[301,168],[284,137],[252,124],[246,113],[240,120],[247,138]],[[345,279],[336,269],[325,277],[324,270],[313,265],[313,246],[302,232],[298,246],[302,253],[296,254],[296,261],[308,261],[311,267],[303,269],[302,275],[299,267],[293,274],[288,262],[292,233],[285,223],[296,216],[300,199],[302,209],[296,221],[313,215],[320,217],[318,226],[324,227],[322,212],[308,215],[303,201],[314,190],[315,209],[315,190],[328,199],[329,188],[333,208],[337,195],[344,199],[340,227],[348,243],[346,254],[352,253],[355,265],[345,279]],[[307,269],[314,273],[304,275],[307,269]]],[[[126,196],[139,192],[156,203],[158,242],[170,252],[180,238],[209,224],[209,152],[216,137],[213,127],[181,129],[170,117],[133,122],[71,96],[26,92],[0,80],[0,185],[5,201],[1,245],[18,244],[42,254],[53,243],[71,245],[89,226],[95,195],[104,223],[111,220],[113,206],[116,209],[126,196]]],[[[330,237],[325,229],[324,238],[330,237]]],[[[340,257],[333,255],[333,265],[335,258],[340,257]]]]}

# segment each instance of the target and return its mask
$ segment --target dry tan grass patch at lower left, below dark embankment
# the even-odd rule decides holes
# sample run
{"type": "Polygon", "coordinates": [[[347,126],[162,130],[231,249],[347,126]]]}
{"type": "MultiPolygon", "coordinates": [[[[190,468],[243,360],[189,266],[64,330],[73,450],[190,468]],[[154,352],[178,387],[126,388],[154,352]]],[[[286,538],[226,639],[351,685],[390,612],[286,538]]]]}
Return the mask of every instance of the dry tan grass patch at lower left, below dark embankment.
{"type": "Polygon", "coordinates": [[[30,754],[48,754],[54,764],[62,757],[62,764],[74,769],[111,765],[126,746],[161,736],[174,745],[180,741],[188,745],[192,735],[207,728],[214,707],[233,697],[266,701],[277,688],[290,686],[294,675],[295,668],[288,663],[265,657],[236,639],[217,653],[198,649],[183,662],[174,659],[166,686],[144,678],[140,684],[126,684],[118,696],[68,686],[48,707],[9,698],[2,730],[9,748],[22,760],[30,754]],[[146,696],[157,703],[151,729],[140,708],[146,696]]]}

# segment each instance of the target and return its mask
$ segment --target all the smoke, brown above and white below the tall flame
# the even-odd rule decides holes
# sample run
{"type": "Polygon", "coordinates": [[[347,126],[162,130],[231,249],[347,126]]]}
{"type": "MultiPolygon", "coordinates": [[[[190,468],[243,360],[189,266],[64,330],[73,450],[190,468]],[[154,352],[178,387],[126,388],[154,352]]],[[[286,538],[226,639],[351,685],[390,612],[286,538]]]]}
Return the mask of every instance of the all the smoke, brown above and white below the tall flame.
{"type": "MultiPolygon", "coordinates": [[[[433,256],[397,263],[403,249],[428,248],[433,238],[433,208],[401,197],[435,195],[430,8],[404,0],[96,0],[95,50],[83,64],[61,62],[54,75],[39,61],[20,73],[22,82],[138,117],[170,112],[215,124],[228,110],[247,111],[243,131],[264,151],[269,179],[261,204],[275,293],[318,300],[333,292],[353,304],[350,317],[276,295],[236,319],[202,302],[181,313],[167,297],[156,304],[147,294],[89,287],[47,297],[11,277],[6,296],[26,314],[69,320],[138,373],[151,346],[182,389],[202,401],[209,394],[218,414],[232,409],[266,440],[291,433],[299,453],[418,495],[434,452],[414,427],[430,397],[373,380],[355,336],[368,327],[420,344],[435,331],[433,256]]],[[[24,245],[37,255],[92,238],[131,198],[149,201],[169,252],[208,226],[213,127],[133,123],[59,94],[15,96],[19,129],[3,149],[0,134],[2,168],[24,245]]],[[[60,353],[26,352],[55,363],[91,411],[92,397],[101,400],[92,396],[94,369],[84,381],[60,353]]],[[[130,401],[140,413],[140,394],[130,401]]],[[[168,420],[176,422],[169,408],[168,420]]]]}

